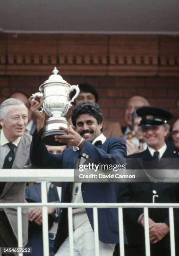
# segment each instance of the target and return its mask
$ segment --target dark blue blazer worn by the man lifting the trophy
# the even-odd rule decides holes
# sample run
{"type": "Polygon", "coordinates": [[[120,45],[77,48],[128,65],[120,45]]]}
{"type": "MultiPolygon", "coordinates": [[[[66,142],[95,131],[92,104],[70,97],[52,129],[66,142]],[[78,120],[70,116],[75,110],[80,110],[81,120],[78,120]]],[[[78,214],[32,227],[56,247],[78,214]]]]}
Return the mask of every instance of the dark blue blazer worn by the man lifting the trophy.
{"type": "MultiPolygon", "coordinates": [[[[82,154],[89,156],[89,159],[124,159],[126,158],[125,141],[121,138],[107,138],[105,143],[94,146],[85,141],[81,150],[74,151],[73,148],[66,148],[62,154],[51,154],[47,151],[45,145],[41,143],[43,129],[33,135],[31,143],[30,159],[31,163],[38,168],[51,169],[74,169],[74,159],[82,157],[82,154]]],[[[83,201],[90,203],[108,203],[117,202],[118,183],[82,183],[83,201]]],[[[72,182],[62,183],[61,202],[71,202],[72,182]]],[[[86,209],[90,224],[93,228],[92,209],[86,209]]],[[[59,220],[54,251],[56,252],[60,245],[68,236],[67,209],[62,209],[59,220]]],[[[118,211],[117,209],[99,209],[99,239],[104,243],[118,243],[118,211]]]]}

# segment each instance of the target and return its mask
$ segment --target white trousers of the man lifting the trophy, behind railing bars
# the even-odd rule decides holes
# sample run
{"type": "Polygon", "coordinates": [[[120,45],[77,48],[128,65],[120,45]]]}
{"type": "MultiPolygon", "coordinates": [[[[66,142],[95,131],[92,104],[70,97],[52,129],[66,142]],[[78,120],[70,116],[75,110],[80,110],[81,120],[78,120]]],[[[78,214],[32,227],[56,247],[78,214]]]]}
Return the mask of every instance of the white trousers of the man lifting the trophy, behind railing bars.
{"type": "MultiPolygon", "coordinates": [[[[63,232],[61,230],[61,232],[63,232]]],[[[90,221],[86,221],[73,233],[74,256],[95,256],[95,238],[94,231],[90,221]]],[[[115,243],[102,243],[99,241],[100,256],[113,256],[115,243]]],[[[55,256],[70,256],[69,236],[60,246],[55,256]]]]}

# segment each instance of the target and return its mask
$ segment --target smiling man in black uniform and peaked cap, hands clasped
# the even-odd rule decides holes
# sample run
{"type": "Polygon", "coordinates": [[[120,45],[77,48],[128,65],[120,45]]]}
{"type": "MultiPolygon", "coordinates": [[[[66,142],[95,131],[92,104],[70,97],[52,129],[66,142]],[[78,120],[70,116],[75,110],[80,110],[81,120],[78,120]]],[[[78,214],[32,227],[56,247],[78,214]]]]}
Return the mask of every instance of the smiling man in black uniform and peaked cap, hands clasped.
{"type": "MultiPolygon", "coordinates": [[[[162,183],[167,172],[178,169],[179,156],[165,143],[168,133],[167,120],[172,114],[161,108],[143,107],[136,110],[141,116],[141,131],[147,143],[147,149],[128,156],[132,169],[141,169],[147,175],[147,183],[121,184],[119,202],[179,202],[179,186],[176,183],[162,183]],[[172,159],[172,160],[170,160],[172,159]],[[161,176],[160,176],[161,174],[161,176]],[[161,182],[161,183],[156,183],[161,182]],[[155,201],[154,197],[155,196],[155,201]]],[[[130,166],[131,167],[131,166],[130,166]]],[[[130,168],[131,169],[131,168],[130,168]]],[[[176,255],[179,255],[179,211],[174,209],[176,255]]],[[[128,240],[125,246],[126,256],[144,256],[144,216],[143,209],[124,209],[124,225],[128,240]]],[[[149,235],[151,256],[170,256],[169,211],[164,208],[149,209],[149,235]]]]}

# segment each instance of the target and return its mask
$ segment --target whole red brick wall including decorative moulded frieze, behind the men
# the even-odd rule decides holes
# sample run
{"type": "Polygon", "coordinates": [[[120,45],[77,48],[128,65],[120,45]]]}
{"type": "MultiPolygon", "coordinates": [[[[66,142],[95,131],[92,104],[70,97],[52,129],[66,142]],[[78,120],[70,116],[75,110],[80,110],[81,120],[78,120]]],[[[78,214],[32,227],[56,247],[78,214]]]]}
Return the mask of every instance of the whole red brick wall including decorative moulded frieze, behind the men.
{"type": "Polygon", "coordinates": [[[54,67],[70,84],[95,86],[105,117],[122,125],[133,95],[178,118],[179,36],[1,33],[0,102],[37,92],[54,67]]]}

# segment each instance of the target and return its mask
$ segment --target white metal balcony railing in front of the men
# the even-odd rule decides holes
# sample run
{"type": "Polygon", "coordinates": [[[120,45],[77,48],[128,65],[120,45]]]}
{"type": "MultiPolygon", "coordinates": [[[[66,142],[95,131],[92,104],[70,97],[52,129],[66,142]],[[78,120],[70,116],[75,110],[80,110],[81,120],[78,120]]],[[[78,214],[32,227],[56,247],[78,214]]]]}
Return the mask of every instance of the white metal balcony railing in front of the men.
{"type": "MultiPolygon", "coordinates": [[[[42,207],[43,217],[43,252],[44,256],[49,256],[49,237],[48,237],[48,214],[47,207],[68,208],[69,221],[69,244],[70,256],[73,253],[73,217],[72,208],[93,208],[94,215],[94,232],[95,232],[95,256],[99,255],[98,243],[98,208],[118,208],[119,219],[119,240],[120,240],[120,256],[124,254],[124,236],[123,236],[123,208],[143,208],[144,209],[144,224],[145,224],[145,245],[146,256],[150,256],[150,240],[148,226],[148,208],[169,208],[169,224],[170,224],[170,245],[171,256],[175,256],[175,241],[174,241],[174,212],[173,208],[179,208],[179,204],[170,203],[48,203],[46,182],[74,182],[74,170],[72,169],[6,169],[0,172],[1,182],[41,182],[41,203],[1,203],[0,208],[17,208],[18,214],[18,247],[23,247],[22,238],[22,217],[21,207],[42,207]],[[5,171],[5,172],[4,172],[5,171]]],[[[19,256],[23,256],[19,253],[19,256]]]]}

